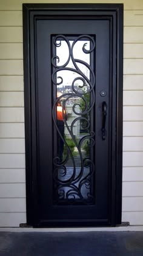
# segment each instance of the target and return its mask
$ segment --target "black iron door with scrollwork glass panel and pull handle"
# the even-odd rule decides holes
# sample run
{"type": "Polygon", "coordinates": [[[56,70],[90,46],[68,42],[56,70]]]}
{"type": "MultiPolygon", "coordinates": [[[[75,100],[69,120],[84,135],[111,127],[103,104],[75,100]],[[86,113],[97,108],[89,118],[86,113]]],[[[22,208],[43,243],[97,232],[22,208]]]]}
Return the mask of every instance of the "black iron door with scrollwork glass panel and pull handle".
{"type": "Polygon", "coordinates": [[[50,12],[30,23],[29,223],[116,224],[116,19],[50,12]]]}

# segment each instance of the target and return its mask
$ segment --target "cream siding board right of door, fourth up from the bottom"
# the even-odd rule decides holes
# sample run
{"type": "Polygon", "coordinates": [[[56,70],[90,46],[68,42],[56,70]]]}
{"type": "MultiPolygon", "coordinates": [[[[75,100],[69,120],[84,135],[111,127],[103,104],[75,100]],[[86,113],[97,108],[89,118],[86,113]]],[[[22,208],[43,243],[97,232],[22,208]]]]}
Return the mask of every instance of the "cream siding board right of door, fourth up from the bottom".
{"type": "Polygon", "coordinates": [[[123,167],[123,181],[143,181],[143,167],[123,167]]]}

